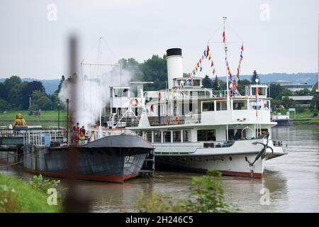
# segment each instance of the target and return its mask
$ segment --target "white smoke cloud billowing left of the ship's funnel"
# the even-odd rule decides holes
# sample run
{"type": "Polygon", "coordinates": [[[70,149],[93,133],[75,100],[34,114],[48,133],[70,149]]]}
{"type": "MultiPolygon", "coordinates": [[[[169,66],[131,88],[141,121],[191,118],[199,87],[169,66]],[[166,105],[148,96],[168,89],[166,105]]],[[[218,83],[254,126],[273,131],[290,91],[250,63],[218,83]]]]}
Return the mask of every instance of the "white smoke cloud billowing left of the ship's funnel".
{"type": "Polygon", "coordinates": [[[59,98],[65,102],[69,99],[69,109],[73,109],[72,120],[80,126],[99,124],[101,109],[110,101],[111,86],[128,86],[135,72],[113,67],[111,72],[98,75],[79,75],[74,85],[65,80],[62,84],[59,98]],[[71,86],[77,89],[77,104],[74,106],[71,99],[71,86]]]}

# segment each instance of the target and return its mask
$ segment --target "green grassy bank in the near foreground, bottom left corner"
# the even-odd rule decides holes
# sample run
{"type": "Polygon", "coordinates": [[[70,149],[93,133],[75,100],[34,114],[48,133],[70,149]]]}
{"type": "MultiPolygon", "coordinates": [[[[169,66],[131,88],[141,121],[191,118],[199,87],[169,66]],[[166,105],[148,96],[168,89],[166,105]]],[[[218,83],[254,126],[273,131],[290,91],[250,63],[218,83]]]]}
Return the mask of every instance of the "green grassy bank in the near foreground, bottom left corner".
{"type": "Polygon", "coordinates": [[[0,175],[0,212],[59,212],[60,206],[49,206],[47,196],[28,183],[0,175]],[[2,201],[2,203],[1,203],[2,201]]]}

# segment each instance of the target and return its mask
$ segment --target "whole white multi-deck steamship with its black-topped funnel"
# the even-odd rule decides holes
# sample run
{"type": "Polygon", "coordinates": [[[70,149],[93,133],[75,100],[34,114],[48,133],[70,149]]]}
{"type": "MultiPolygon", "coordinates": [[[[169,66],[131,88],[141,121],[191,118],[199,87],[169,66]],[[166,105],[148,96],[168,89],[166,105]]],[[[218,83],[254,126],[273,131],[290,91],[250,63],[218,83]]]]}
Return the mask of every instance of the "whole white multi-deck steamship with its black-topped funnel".
{"type": "Polygon", "coordinates": [[[223,91],[220,96],[204,88],[201,77],[187,83],[180,64],[181,49],[167,50],[169,84],[179,89],[138,89],[138,97],[130,97],[130,87],[111,87],[108,126],[135,131],[151,142],[157,166],[262,177],[265,160],[286,154],[282,143],[272,140],[276,123],[270,119],[267,85],[250,85],[245,95],[228,97],[223,91]]]}

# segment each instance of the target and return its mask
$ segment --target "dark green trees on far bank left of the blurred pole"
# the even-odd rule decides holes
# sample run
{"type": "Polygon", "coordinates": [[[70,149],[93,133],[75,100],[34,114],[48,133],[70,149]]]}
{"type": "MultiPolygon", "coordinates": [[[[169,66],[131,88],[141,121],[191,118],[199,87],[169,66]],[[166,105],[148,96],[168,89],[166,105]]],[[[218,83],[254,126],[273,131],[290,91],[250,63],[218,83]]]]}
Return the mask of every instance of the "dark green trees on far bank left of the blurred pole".
{"type": "Polygon", "coordinates": [[[56,110],[57,94],[64,79],[62,76],[57,91],[47,95],[40,81],[23,82],[20,77],[11,76],[0,83],[0,111],[56,110]]]}

